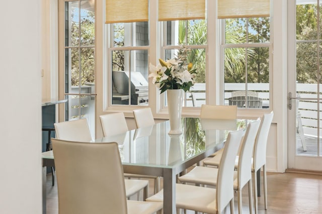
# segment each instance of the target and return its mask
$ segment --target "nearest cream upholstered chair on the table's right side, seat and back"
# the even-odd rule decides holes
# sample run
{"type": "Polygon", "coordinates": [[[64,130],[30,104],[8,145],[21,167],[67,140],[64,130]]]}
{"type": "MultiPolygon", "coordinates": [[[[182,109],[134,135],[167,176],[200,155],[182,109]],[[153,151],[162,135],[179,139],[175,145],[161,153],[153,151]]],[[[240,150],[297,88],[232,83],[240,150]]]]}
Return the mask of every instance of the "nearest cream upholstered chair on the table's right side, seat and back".
{"type": "MultiPolygon", "coordinates": [[[[244,131],[230,131],[222,153],[222,163],[218,169],[216,188],[176,184],[176,206],[205,213],[221,213],[230,204],[233,213],[233,173],[238,146],[244,131]]],[[[147,201],[163,201],[163,190],[146,198],[147,201]]]]}

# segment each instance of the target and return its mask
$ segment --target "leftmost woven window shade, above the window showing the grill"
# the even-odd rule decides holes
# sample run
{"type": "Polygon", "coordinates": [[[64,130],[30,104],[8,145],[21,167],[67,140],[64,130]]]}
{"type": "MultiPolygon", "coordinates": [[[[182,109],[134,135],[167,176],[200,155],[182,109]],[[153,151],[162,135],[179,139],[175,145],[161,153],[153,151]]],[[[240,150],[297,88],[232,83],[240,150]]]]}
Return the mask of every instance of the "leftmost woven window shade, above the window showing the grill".
{"type": "Polygon", "coordinates": [[[147,22],[148,0],[106,0],[106,24],[147,22]]]}

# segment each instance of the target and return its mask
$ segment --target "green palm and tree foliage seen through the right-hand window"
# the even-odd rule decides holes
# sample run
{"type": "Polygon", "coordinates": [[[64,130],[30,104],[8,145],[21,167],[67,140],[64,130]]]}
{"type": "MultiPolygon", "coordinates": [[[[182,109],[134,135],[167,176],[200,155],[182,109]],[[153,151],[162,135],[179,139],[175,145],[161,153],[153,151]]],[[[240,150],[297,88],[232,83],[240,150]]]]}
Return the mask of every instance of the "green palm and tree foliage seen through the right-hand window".
{"type": "MultiPolygon", "coordinates": [[[[225,20],[226,44],[268,43],[269,41],[269,18],[225,20]],[[246,37],[247,28],[248,37],[246,37]]],[[[225,48],[224,72],[225,83],[245,83],[246,75],[248,83],[268,83],[269,48],[225,48]]]]}

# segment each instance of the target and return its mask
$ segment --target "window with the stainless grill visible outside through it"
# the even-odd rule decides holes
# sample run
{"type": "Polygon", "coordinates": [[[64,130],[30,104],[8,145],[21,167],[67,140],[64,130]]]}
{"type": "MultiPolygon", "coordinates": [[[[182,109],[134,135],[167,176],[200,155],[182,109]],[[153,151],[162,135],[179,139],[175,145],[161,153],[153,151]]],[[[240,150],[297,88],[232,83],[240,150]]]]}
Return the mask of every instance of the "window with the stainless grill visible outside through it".
{"type": "Polygon", "coordinates": [[[148,22],[112,24],[112,105],[148,105],[148,22]]]}

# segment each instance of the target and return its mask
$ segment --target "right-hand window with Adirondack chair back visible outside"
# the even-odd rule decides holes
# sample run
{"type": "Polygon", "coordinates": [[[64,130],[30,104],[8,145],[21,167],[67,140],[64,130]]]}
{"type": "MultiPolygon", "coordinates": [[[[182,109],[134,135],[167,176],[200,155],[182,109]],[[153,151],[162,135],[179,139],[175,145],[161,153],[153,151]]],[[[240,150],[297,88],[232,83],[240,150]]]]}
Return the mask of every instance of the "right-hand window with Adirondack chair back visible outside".
{"type": "Polygon", "coordinates": [[[224,104],[269,108],[270,18],[221,22],[224,104]]]}

